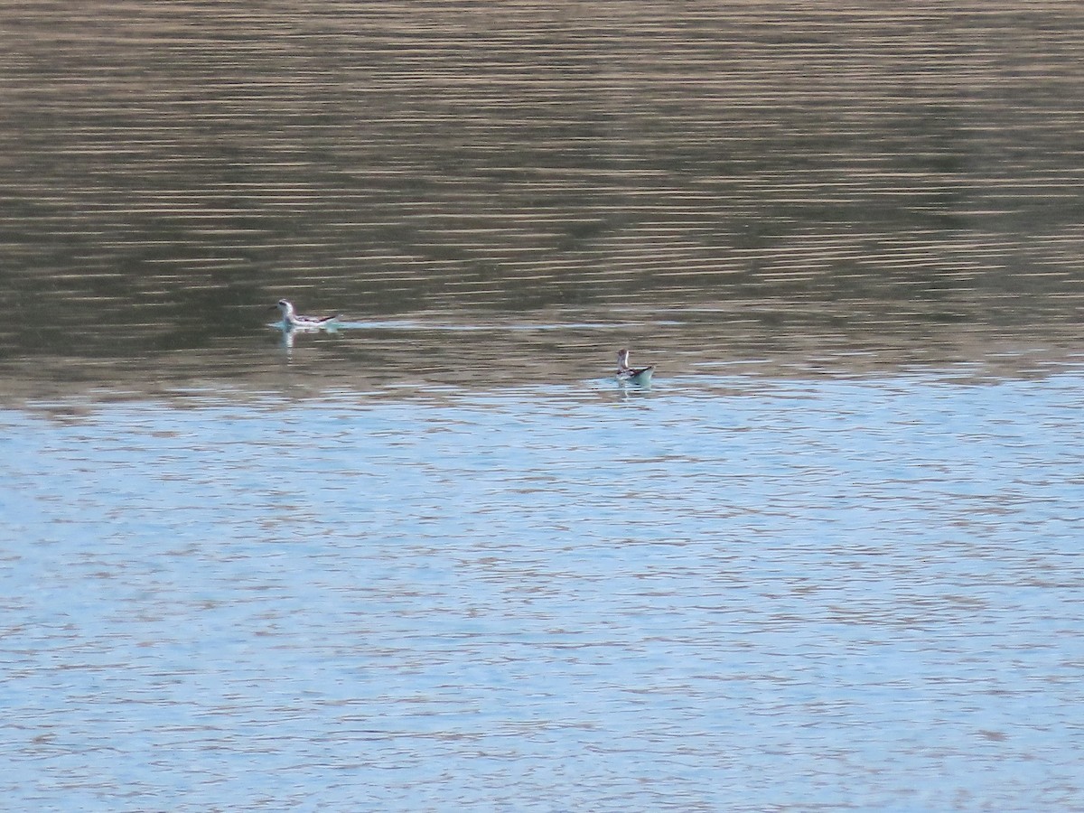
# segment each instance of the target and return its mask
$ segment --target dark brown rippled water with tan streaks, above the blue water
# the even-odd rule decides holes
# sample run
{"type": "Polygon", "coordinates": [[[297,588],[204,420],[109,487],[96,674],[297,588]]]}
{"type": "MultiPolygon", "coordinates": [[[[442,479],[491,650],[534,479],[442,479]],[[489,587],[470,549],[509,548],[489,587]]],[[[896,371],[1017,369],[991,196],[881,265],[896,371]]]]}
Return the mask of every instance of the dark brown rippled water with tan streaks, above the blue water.
{"type": "Polygon", "coordinates": [[[965,7],[9,10],[10,391],[264,386],[280,296],[480,328],[295,348],[347,377],[1075,359],[1084,12],[965,7]]]}

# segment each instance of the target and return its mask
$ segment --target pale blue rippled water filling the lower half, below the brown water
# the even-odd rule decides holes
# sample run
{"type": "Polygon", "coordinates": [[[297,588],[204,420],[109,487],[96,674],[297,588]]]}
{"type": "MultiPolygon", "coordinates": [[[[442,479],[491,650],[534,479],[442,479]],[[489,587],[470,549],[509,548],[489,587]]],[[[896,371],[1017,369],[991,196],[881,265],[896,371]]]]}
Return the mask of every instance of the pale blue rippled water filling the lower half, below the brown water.
{"type": "Polygon", "coordinates": [[[1084,374],[0,412],[11,810],[1084,800],[1084,374]]]}

